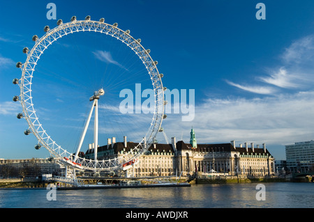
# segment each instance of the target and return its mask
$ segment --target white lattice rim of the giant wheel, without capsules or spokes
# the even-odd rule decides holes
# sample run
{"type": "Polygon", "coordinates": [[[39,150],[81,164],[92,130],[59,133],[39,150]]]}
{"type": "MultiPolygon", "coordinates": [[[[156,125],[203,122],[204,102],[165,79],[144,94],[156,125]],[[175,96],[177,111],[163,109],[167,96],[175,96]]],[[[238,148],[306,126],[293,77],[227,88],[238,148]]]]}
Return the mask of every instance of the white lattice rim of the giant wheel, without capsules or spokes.
{"type": "MultiPolygon", "coordinates": [[[[46,26],[47,27],[47,26],[46,26]]],[[[45,29],[46,29],[45,27],[45,29]]],[[[48,27],[49,29],[49,27],[48,27]]],[[[156,67],[156,61],[154,61],[149,55],[149,49],[144,49],[144,47],[140,44],[140,39],[135,40],[133,36],[130,35],[130,31],[123,31],[117,27],[117,24],[107,24],[103,21],[97,22],[93,20],[74,20],[67,23],[62,23],[60,20],[58,21],[58,26],[54,29],[47,30],[43,37],[34,38],[35,45],[29,51],[28,48],[24,48],[27,54],[27,60],[24,64],[22,64],[22,78],[20,79],[20,103],[22,104],[24,118],[27,120],[27,124],[29,125],[29,129],[36,136],[38,140],[38,144],[43,145],[53,157],[63,159],[73,157],[73,154],[68,152],[67,150],[61,148],[61,145],[58,145],[52,138],[46,133],[45,129],[43,129],[40,124],[38,117],[36,116],[36,111],[33,107],[32,96],[31,96],[31,79],[33,78],[33,72],[35,71],[35,67],[37,65],[40,56],[43,54],[43,51],[47,49],[53,42],[57,41],[64,35],[68,35],[70,33],[82,32],[82,31],[95,31],[99,33],[105,33],[106,35],[111,35],[117,40],[120,40],[124,44],[126,44],[130,49],[135,51],[135,54],[139,56],[139,58],[144,63],[149,76],[151,77],[151,81],[154,86],[155,94],[155,110],[154,117],[151,121],[151,126],[147,130],[147,134],[144,136],[142,141],[138,143],[138,145],[132,150],[134,151],[133,156],[128,157],[128,154],[124,154],[121,157],[115,157],[114,159],[107,160],[91,160],[85,159],[82,157],[77,157],[75,165],[80,164],[83,166],[84,170],[110,170],[113,168],[119,168],[126,161],[130,161],[130,159],[135,159],[143,154],[150,145],[154,142],[154,136],[158,133],[158,129],[160,129],[161,123],[164,118],[164,110],[165,110],[165,101],[164,101],[164,90],[161,77],[158,68],[156,67]],[[148,140],[147,140],[148,136],[148,140]],[[143,144],[143,145],[142,145],[143,144]],[[144,148],[142,147],[144,146],[144,148]],[[140,148],[138,148],[140,147],[140,148]]],[[[23,49],[23,51],[24,51],[23,49]]],[[[28,130],[29,130],[28,129],[28,130]]]]}

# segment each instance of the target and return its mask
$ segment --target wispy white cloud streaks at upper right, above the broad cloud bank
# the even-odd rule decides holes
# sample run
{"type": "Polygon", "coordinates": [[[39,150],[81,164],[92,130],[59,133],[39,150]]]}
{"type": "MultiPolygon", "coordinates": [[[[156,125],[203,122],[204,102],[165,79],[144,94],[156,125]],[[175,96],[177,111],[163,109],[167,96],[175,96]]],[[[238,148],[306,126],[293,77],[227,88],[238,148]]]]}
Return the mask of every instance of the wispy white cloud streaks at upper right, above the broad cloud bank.
{"type": "MultiPolygon", "coordinates": [[[[264,77],[257,77],[258,81],[271,86],[244,86],[227,81],[231,86],[241,88],[251,93],[271,95],[279,90],[285,89],[303,89],[313,85],[313,68],[314,68],[314,35],[308,35],[304,38],[294,41],[279,56],[282,61],[281,68],[271,68],[271,74],[264,77]]],[[[257,83],[258,84],[258,83],[257,83]]],[[[256,83],[255,83],[256,85],[256,83]]]]}

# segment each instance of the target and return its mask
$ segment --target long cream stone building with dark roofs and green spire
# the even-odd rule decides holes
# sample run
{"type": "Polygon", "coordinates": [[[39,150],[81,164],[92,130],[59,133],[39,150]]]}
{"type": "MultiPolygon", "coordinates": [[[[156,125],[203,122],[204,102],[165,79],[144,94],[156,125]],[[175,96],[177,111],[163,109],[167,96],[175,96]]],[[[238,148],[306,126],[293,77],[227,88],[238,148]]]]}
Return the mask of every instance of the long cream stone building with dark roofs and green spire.
{"type": "MultiPolygon", "coordinates": [[[[98,147],[98,160],[112,159],[119,155],[130,154],[130,150],[138,143],[116,142],[108,139],[108,144],[98,147]]],[[[85,153],[88,159],[94,159],[94,148],[89,146],[85,153]]],[[[130,154],[131,157],[131,154],[130,154]]],[[[154,143],[138,158],[133,171],[135,177],[192,175],[193,173],[220,175],[267,176],[275,173],[275,159],[269,153],[265,144],[235,145],[231,143],[197,144],[194,129],[190,132],[190,143],[176,141],[172,143],[154,143]]]]}

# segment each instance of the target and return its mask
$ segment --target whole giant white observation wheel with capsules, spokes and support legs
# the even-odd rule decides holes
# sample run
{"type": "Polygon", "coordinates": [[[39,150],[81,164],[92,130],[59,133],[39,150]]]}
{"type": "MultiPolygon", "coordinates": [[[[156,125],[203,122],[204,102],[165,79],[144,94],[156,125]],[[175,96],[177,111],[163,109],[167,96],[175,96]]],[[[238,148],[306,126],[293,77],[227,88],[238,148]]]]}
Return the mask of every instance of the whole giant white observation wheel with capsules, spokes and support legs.
{"type": "MultiPolygon", "coordinates": [[[[20,86],[20,95],[15,95],[13,100],[22,104],[22,112],[17,114],[17,118],[27,120],[28,128],[24,134],[33,134],[36,137],[38,143],[35,145],[35,148],[44,147],[50,152],[52,157],[62,160],[63,164],[70,164],[73,168],[91,171],[107,171],[121,168],[123,164],[146,152],[150,145],[154,143],[154,138],[160,129],[163,119],[166,117],[164,113],[166,103],[164,100],[165,87],[163,87],[161,81],[163,74],[158,72],[158,62],[151,58],[149,54],[150,49],[145,49],[141,45],[140,39],[133,38],[130,35],[130,30],[124,31],[119,29],[117,23],[107,24],[103,18],[99,21],[94,21],[91,20],[90,16],[87,16],[84,20],[77,20],[73,16],[70,22],[67,23],[63,23],[59,19],[54,29],[45,26],[44,31],[45,35],[41,38],[38,35],[33,35],[32,40],[35,44],[31,49],[28,47],[23,49],[24,54],[27,55],[26,61],[16,64],[17,68],[21,69],[22,76],[18,79],[13,79],[13,84],[20,86]],[[93,39],[81,39],[82,36],[78,33],[80,35],[88,33],[88,37],[93,35],[93,39]],[[75,36],[70,37],[71,35],[75,36]],[[61,38],[62,40],[69,39],[68,42],[64,42],[61,38]],[[75,46],[70,45],[70,43],[75,41],[78,42],[75,46]],[[97,47],[91,45],[95,41],[99,42],[97,47]],[[87,54],[87,50],[93,46],[95,50],[89,51],[89,54],[87,54]],[[104,47],[103,49],[101,49],[102,46],[104,47]],[[48,48],[51,49],[50,53],[48,48]],[[46,51],[46,49],[48,50],[46,51]],[[80,53],[75,50],[80,51],[82,54],[79,55],[80,53]],[[47,56],[54,56],[55,61],[45,59],[46,54],[47,56]],[[124,56],[124,58],[119,57],[119,55],[124,56]],[[114,56],[121,59],[117,61],[114,59],[114,56]],[[68,58],[73,59],[70,60],[68,58]],[[89,61],[89,58],[94,58],[94,61],[89,61]],[[102,61],[103,63],[101,63],[102,61]],[[87,65],[82,68],[84,63],[87,65]],[[72,65],[73,72],[66,70],[65,67],[69,65],[72,65]],[[62,67],[64,67],[63,70],[62,67]],[[100,72],[96,70],[97,67],[100,72]],[[54,80],[42,84],[47,79],[45,78],[47,76],[54,80]],[[36,78],[38,78],[37,81],[36,78]],[[56,83],[59,84],[59,88],[55,87],[56,83]],[[134,86],[136,83],[145,83],[147,85],[142,86],[151,88],[151,92],[154,92],[154,104],[151,106],[149,118],[137,115],[133,119],[124,119],[128,114],[124,115],[117,111],[117,106],[119,105],[117,103],[117,98],[119,98],[117,95],[119,92],[121,94],[122,88],[134,86]],[[94,86],[89,87],[89,85],[94,86]],[[76,93],[71,95],[69,92],[73,92],[73,90],[76,93]],[[52,97],[55,99],[57,96],[57,100],[52,100],[52,97]],[[75,120],[81,125],[81,127],[77,127],[80,129],[78,134],[73,134],[72,129],[69,133],[76,138],[76,143],[68,141],[68,143],[62,145],[57,139],[54,139],[54,135],[57,134],[54,132],[59,132],[59,129],[65,128],[66,122],[60,125],[53,117],[48,121],[47,116],[41,113],[49,112],[52,108],[45,109],[40,107],[42,103],[38,103],[38,106],[36,106],[36,102],[40,100],[45,100],[47,105],[52,106],[54,101],[59,101],[59,104],[56,102],[57,105],[54,106],[52,116],[54,114],[57,115],[58,112],[62,113],[62,106],[66,106],[66,111],[70,111],[68,115],[73,118],[73,121],[75,120]],[[75,100],[76,103],[73,102],[75,100]],[[85,115],[81,115],[84,113],[83,111],[80,114],[80,109],[83,109],[83,107],[87,110],[85,115]],[[98,122],[98,108],[100,109],[100,117],[102,112],[105,113],[103,116],[105,128],[101,127],[100,121],[98,122]],[[93,111],[94,127],[92,130],[89,130],[89,122],[93,121],[91,118],[93,111]],[[107,115],[106,113],[110,111],[116,112],[114,115],[107,115]],[[80,115],[85,118],[83,121],[84,126],[82,126],[81,121],[78,121],[80,120],[80,115]],[[40,122],[39,117],[43,121],[40,122]],[[48,126],[47,130],[44,128],[46,125],[48,126]],[[55,131],[51,130],[52,134],[48,134],[51,129],[49,126],[55,128],[55,131]],[[107,131],[102,131],[103,134],[105,132],[107,134],[119,134],[118,132],[121,134],[133,134],[136,131],[136,127],[140,127],[141,130],[133,138],[137,139],[138,143],[135,145],[135,148],[130,150],[131,155],[122,154],[112,159],[98,160],[97,148],[100,143],[98,141],[98,132],[100,129],[107,129],[107,131]],[[89,131],[94,131],[94,139],[90,139],[95,145],[94,159],[87,159],[78,155],[84,139],[87,140],[85,136],[89,131]],[[71,145],[67,145],[69,143],[71,145]]],[[[62,115],[60,114],[57,119],[63,117],[64,121],[70,121],[69,116],[64,118],[62,115]]],[[[67,138],[63,140],[67,141],[67,138]]]]}

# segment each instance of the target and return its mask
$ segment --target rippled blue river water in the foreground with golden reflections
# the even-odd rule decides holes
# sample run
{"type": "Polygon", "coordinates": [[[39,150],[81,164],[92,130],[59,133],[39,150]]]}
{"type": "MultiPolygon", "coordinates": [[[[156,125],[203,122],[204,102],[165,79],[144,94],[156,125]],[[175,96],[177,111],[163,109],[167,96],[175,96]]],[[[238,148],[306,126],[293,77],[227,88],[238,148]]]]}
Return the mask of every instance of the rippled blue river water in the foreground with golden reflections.
{"type": "Polygon", "coordinates": [[[193,184],[191,187],[0,189],[0,208],[313,208],[314,183],[193,184]],[[55,193],[51,193],[54,191],[55,193]],[[263,194],[259,192],[264,191],[263,194]],[[47,193],[50,192],[50,195],[47,193]],[[48,198],[47,198],[48,196],[48,198]],[[50,200],[48,200],[50,197],[50,200]],[[51,197],[54,197],[52,199],[51,197]]]}

